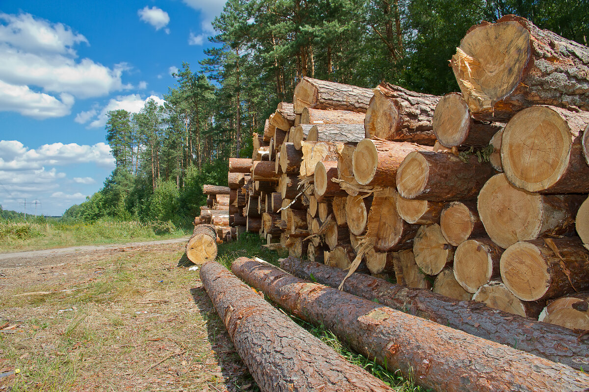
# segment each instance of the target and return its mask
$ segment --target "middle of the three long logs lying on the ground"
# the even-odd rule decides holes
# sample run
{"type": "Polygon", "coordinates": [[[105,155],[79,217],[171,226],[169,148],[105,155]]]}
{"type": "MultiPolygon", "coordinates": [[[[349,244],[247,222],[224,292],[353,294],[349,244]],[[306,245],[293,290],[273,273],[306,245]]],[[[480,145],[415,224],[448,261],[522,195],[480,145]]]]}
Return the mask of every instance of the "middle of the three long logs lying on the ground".
{"type": "Polygon", "coordinates": [[[322,324],[382,366],[435,390],[582,391],[589,375],[352,294],[237,259],[231,270],[295,316],[322,324]],[[492,376],[489,376],[492,375],[492,376]]]}

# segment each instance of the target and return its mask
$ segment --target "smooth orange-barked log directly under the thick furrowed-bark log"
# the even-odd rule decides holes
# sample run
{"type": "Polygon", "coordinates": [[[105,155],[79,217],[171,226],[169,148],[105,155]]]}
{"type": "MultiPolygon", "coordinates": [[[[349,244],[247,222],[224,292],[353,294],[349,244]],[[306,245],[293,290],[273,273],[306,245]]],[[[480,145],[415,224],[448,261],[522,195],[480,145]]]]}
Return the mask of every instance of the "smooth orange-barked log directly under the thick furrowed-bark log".
{"type": "Polygon", "coordinates": [[[363,139],[352,155],[354,178],[360,185],[396,186],[397,170],[405,157],[428,150],[431,148],[413,143],[363,139]]]}

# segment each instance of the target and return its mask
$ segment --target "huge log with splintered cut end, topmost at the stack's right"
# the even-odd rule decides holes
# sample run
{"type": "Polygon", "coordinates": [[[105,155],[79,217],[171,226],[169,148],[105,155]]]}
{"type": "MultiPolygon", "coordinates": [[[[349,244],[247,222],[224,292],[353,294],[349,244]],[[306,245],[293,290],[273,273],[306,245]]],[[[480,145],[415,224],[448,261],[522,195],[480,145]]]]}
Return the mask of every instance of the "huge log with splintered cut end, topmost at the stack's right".
{"type": "Polygon", "coordinates": [[[472,115],[511,118],[533,105],[589,110],[589,49],[505,15],[472,26],[452,56],[452,70],[472,115]],[[489,71],[491,70],[492,71],[489,71]]]}

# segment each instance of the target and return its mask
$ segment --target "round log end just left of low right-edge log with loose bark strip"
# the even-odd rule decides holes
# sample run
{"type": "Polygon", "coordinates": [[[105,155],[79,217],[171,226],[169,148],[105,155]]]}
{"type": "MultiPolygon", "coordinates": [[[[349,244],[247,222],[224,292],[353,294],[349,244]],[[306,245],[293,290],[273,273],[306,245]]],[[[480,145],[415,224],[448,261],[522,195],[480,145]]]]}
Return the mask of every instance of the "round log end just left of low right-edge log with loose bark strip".
{"type": "Polygon", "coordinates": [[[475,293],[483,284],[499,277],[501,247],[488,238],[466,240],[454,253],[454,277],[467,292],[475,293]]]}

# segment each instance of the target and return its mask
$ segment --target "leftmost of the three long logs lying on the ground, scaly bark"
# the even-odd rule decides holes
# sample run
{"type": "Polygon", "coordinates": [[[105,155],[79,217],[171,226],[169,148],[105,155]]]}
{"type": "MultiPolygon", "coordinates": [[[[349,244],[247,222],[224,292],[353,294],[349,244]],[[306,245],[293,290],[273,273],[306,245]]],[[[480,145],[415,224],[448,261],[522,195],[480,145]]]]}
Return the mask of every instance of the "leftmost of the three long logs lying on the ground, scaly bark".
{"type": "Polygon", "coordinates": [[[262,391],[392,391],[264,301],[221,264],[205,264],[200,277],[262,391]]]}

